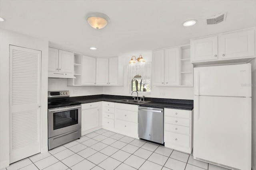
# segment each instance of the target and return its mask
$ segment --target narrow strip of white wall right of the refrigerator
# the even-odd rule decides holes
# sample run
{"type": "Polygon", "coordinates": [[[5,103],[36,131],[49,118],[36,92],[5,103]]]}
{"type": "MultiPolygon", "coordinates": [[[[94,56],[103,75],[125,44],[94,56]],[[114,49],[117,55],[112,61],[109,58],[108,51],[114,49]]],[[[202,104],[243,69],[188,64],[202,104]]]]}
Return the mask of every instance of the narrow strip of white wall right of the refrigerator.
{"type": "Polygon", "coordinates": [[[252,170],[256,170],[256,59],[252,62],[252,170]]]}

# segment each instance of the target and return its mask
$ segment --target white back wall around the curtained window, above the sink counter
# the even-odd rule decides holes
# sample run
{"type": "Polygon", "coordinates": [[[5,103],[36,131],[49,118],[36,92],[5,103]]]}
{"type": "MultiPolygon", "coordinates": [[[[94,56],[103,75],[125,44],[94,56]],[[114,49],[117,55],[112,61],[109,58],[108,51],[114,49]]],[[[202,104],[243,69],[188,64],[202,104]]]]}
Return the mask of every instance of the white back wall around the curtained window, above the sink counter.
{"type": "MultiPolygon", "coordinates": [[[[144,51],[144,52],[136,52],[133,55],[138,57],[142,55],[143,59],[146,62],[152,61],[152,52],[144,51]]],[[[112,94],[112,95],[120,95],[120,96],[130,96],[131,88],[128,83],[128,74],[127,74],[127,66],[130,61],[132,54],[127,54],[124,56],[124,86],[104,86],[103,94],[112,94]]],[[[129,80],[130,81],[130,80],[129,80]]],[[[160,86],[151,86],[150,94],[139,94],[139,96],[146,96],[149,98],[169,98],[169,99],[187,99],[193,100],[193,87],[160,87],[160,86]],[[161,96],[160,93],[164,92],[165,96],[161,96]]]]}

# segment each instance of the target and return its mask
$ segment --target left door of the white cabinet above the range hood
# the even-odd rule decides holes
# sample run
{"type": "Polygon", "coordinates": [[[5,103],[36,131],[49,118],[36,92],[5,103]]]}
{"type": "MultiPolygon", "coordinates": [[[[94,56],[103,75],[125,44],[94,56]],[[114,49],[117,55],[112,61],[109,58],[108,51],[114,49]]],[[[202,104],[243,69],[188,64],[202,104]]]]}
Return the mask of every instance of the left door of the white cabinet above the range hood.
{"type": "Polygon", "coordinates": [[[59,50],[49,47],[48,71],[58,72],[59,50]]]}

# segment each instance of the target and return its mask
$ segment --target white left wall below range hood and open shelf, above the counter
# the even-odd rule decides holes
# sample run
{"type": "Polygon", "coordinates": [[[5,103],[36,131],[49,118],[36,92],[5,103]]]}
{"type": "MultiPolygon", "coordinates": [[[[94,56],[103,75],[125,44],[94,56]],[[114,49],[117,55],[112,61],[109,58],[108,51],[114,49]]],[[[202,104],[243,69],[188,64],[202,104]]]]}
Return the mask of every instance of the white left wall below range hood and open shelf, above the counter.
{"type": "Polygon", "coordinates": [[[102,86],[67,86],[67,79],[48,79],[48,91],[69,90],[70,97],[103,94],[102,86]],[[74,94],[73,91],[77,90],[74,94]]]}

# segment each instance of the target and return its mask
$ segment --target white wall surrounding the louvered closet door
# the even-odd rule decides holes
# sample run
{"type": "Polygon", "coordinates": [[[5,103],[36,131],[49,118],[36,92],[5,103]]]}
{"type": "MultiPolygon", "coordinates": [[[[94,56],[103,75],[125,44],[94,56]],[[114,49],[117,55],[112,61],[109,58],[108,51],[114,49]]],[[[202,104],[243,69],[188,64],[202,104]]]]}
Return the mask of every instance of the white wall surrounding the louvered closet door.
{"type": "Polygon", "coordinates": [[[0,29],[0,169],[9,166],[9,45],[42,51],[41,152],[48,150],[48,41],[0,29]]]}

